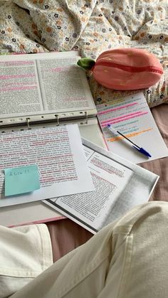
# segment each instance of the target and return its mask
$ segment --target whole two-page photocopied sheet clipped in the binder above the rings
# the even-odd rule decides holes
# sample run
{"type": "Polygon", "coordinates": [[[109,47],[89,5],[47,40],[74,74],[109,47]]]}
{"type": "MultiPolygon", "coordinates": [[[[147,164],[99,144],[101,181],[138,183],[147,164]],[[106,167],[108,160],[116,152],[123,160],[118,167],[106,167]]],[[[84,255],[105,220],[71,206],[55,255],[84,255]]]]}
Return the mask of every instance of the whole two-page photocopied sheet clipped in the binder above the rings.
{"type": "Polygon", "coordinates": [[[95,115],[79,58],[78,51],[0,56],[0,118],[37,115],[41,119],[61,112],[68,113],[61,117],[73,118],[73,112],[83,116],[80,111],[95,115]]]}

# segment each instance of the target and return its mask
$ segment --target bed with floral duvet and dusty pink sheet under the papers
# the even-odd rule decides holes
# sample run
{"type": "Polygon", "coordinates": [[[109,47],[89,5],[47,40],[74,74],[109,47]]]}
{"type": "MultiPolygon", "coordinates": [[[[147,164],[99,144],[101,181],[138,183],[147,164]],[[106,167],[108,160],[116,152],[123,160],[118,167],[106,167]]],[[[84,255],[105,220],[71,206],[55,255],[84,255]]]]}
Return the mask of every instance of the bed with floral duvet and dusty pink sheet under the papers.
{"type": "MultiPolygon", "coordinates": [[[[83,57],[96,59],[112,48],[145,48],[162,63],[159,83],[142,92],[168,144],[167,0],[0,1],[1,54],[79,50],[83,57]]],[[[107,90],[92,73],[87,75],[95,104],[137,92],[107,90]]],[[[168,201],[168,157],[140,165],[160,176],[150,200],[168,201]]],[[[48,223],[48,228],[54,260],[92,237],[68,219],[48,223]]]]}

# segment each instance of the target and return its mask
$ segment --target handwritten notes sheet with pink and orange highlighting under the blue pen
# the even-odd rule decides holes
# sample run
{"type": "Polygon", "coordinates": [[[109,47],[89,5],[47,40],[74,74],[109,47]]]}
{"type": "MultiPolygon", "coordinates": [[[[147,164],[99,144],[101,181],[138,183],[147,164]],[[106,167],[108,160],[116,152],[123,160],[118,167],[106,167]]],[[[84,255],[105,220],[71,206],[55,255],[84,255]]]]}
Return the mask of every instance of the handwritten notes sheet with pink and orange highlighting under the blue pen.
{"type": "Polygon", "coordinates": [[[97,110],[107,147],[113,153],[135,164],[168,156],[167,146],[142,92],[98,105],[97,110]],[[112,134],[107,124],[145,149],[152,157],[148,158],[132,148],[132,144],[119,134],[112,134]]]}

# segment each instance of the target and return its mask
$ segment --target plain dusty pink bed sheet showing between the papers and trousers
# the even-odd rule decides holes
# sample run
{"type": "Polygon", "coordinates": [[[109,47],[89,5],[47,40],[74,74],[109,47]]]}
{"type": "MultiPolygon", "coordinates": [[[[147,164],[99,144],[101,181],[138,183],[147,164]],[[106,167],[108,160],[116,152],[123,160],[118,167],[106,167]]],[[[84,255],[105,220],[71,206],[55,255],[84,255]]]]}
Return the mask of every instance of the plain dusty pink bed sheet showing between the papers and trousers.
{"type": "MultiPolygon", "coordinates": [[[[168,105],[162,104],[151,109],[164,142],[168,146],[168,105]]],[[[157,146],[157,142],[155,144],[157,146]]],[[[143,168],[159,175],[159,181],[149,201],[168,201],[168,157],[140,164],[143,168]]],[[[63,257],[79,245],[85,243],[93,234],[68,218],[47,223],[53,246],[53,260],[63,257]]]]}

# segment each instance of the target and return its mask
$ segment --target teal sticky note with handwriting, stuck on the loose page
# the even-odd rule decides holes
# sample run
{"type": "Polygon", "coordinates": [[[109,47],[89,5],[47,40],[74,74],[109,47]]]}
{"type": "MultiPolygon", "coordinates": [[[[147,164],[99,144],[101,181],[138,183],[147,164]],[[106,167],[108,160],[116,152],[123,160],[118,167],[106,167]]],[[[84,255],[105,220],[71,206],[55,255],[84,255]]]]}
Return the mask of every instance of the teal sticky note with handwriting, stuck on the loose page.
{"type": "Polygon", "coordinates": [[[5,196],[14,196],[28,193],[40,188],[38,167],[19,166],[18,168],[5,169],[5,196]]]}

